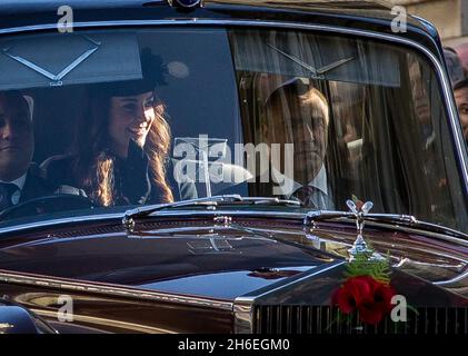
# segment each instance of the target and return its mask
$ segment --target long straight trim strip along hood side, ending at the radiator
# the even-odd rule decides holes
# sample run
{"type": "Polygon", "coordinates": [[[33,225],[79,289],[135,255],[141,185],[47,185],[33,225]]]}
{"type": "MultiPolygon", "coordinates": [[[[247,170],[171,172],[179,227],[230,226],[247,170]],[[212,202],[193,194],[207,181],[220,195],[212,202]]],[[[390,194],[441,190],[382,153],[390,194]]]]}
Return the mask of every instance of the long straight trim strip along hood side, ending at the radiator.
{"type": "Polygon", "coordinates": [[[93,284],[89,281],[77,281],[57,277],[31,276],[1,269],[0,283],[33,286],[38,288],[53,288],[56,290],[68,290],[73,293],[92,293],[111,297],[126,297],[159,303],[191,305],[195,307],[208,307],[229,312],[232,310],[233,305],[231,301],[189,297],[110,284],[93,284]]]}

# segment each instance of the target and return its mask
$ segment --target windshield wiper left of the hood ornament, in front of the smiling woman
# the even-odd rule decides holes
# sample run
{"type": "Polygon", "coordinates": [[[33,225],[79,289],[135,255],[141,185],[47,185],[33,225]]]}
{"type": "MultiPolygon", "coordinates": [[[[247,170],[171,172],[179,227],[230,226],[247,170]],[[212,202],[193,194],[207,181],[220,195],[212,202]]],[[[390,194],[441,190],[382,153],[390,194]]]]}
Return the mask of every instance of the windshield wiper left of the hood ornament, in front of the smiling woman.
{"type": "Polygon", "coordinates": [[[122,224],[127,228],[135,225],[135,219],[145,218],[157,211],[177,208],[206,207],[216,210],[218,206],[223,205],[272,205],[272,206],[295,206],[300,207],[300,202],[296,200],[279,199],[273,197],[241,197],[240,195],[222,195],[213,197],[205,197],[183,201],[150,205],[127,210],[122,218],[122,224]]]}

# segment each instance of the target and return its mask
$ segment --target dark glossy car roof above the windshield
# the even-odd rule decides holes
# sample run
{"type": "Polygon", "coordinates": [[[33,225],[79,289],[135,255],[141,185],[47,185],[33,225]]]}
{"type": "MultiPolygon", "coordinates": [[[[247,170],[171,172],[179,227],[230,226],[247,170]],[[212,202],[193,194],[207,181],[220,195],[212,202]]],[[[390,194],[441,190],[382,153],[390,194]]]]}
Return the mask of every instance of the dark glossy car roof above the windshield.
{"type": "MultiPolygon", "coordinates": [[[[2,0],[0,33],[57,23],[57,10],[63,4],[62,0],[2,0]]],[[[197,18],[338,26],[405,37],[441,58],[440,40],[431,23],[409,16],[407,31],[394,33],[390,24],[397,14],[391,3],[380,0],[206,0],[192,11],[179,11],[167,0],[69,0],[66,4],[73,9],[76,22],[197,18]]]]}

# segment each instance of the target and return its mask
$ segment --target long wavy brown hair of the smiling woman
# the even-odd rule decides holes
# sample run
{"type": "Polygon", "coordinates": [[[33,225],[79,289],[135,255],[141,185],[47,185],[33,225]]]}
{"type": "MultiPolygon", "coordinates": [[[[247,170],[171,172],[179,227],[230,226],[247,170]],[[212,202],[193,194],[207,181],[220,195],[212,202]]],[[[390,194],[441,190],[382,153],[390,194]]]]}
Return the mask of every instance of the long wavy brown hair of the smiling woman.
{"type": "MultiPolygon", "coordinates": [[[[73,174],[79,187],[99,205],[116,204],[114,182],[116,155],[109,149],[109,110],[110,95],[106,90],[91,90],[89,110],[84,121],[80,123],[76,140],[73,174]]],[[[166,161],[169,154],[171,135],[165,118],[166,108],[155,95],[156,118],[148,132],[145,152],[149,160],[149,178],[151,187],[160,190],[161,201],[173,201],[172,191],[166,180],[166,161]]],[[[142,182],[143,184],[143,182],[142,182]]]]}

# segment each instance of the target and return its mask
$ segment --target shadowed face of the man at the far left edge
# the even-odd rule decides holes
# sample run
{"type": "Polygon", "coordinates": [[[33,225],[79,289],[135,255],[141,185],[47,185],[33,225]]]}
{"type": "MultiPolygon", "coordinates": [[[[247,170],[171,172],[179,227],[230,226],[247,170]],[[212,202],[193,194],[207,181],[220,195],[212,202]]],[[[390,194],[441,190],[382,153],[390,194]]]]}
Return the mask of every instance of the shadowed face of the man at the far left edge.
{"type": "Polygon", "coordinates": [[[27,101],[0,93],[0,179],[11,181],[26,174],[33,151],[33,134],[27,101]]]}

